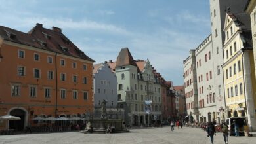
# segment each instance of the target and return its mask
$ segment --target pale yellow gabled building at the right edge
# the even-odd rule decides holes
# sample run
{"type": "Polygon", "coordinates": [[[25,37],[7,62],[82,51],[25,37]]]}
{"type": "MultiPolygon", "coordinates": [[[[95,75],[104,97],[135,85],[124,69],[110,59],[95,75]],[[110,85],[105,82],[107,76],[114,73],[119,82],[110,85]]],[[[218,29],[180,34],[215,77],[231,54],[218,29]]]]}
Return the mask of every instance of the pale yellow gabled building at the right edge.
{"type": "Polygon", "coordinates": [[[255,69],[249,14],[226,13],[223,73],[227,117],[248,118],[255,125],[255,69]],[[252,117],[251,117],[252,116],[252,117]]]}

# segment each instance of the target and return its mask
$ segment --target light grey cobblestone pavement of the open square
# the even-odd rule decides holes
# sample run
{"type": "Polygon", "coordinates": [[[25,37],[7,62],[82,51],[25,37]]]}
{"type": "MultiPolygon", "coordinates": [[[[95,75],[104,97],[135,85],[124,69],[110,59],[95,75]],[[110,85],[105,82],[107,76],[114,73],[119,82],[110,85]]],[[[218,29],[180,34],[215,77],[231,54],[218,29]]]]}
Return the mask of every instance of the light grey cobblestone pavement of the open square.
{"type": "MultiPolygon", "coordinates": [[[[256,137],[228,137],[230,144],[256,143],[256,137]]],[[[217,133],[214,137],[215,144],[224,143],[223,135],[217,133]]],[[[128,133],[119,134],[83,134],[79,132],[56,132],[41,134],[1,135],[0,144],[41,144],[41,143],[209,143],[206,132],[200,128],[175,128],[171,132],[169,126],[163,128],[132,128],[128,133]]]]}

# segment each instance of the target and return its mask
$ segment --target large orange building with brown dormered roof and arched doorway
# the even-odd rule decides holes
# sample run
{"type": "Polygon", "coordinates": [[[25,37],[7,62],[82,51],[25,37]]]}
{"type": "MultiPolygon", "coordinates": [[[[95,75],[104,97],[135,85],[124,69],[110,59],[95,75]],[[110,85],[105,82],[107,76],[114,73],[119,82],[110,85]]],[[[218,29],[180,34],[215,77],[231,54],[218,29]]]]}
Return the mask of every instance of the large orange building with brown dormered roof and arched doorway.
{"type": "Polygon", "coordinates": [[[0,26],[1,128],[23,130],[35,117],[85,117],[93,111],[93,62],[58,27],[28,33],[0,26]]]}

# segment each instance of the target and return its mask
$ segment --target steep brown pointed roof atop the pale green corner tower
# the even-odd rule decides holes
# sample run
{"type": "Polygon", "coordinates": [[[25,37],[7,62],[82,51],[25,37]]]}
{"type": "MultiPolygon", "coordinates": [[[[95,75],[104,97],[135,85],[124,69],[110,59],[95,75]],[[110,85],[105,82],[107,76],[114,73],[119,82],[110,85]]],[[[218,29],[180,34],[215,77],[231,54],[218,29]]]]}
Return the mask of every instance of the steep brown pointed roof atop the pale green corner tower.
{"type": "Polygon", "coordinates": [[[137,67],[135,60],[133,60],[133,56],[131,56],[128,48],[122,48],[116,60],[116,67],[125,65],[133,65],[137,67]]]}

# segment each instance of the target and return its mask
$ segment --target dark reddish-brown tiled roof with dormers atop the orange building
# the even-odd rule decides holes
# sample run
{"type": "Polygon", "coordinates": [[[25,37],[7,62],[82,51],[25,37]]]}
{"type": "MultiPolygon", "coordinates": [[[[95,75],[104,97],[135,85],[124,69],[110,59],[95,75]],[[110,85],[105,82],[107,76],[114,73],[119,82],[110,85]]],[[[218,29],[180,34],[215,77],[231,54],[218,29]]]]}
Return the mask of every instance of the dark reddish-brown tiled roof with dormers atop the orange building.
{"type": "Polygon", "coordinates": [[[61,29],[53,27],[53,29],[45,29],[42,24],[37,24],[28,33],[17,31],[9,27],[0,26],[0,36],[6,41],[20,43],[22,45],[33,46],[36,48],[49,50],[52,52],[81,58],[95,62],[89,58],[84,52],[79,50],[62,32],[61,29]]]}

